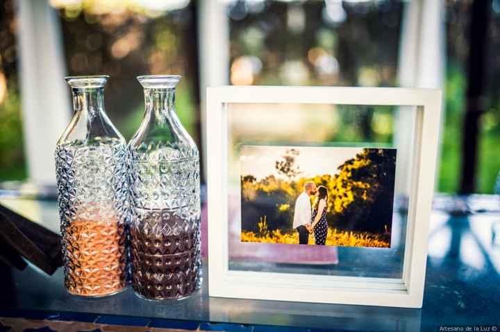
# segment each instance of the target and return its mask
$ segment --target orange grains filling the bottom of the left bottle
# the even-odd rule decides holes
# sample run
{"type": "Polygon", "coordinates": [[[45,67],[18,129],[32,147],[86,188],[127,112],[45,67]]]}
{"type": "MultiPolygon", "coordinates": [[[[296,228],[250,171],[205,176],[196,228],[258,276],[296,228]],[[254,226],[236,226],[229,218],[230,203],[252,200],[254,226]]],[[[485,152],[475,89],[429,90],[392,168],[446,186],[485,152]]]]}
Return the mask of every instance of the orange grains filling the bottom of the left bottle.
{"type": "Polygon", "coordinates": [[[65,285],[73,295],[104,296],[126,286],[123,223],[76,220],[63,232],[65,285]]]}

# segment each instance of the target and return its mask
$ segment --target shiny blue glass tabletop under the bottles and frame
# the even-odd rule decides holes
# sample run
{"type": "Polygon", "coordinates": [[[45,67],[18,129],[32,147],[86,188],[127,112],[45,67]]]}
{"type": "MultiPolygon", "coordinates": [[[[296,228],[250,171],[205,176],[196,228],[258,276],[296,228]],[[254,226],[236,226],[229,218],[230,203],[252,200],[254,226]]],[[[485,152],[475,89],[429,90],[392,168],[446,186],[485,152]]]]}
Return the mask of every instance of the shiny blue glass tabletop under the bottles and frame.
{"type": "MultiPolygon", "coordinates": [[[[435,199],[422,309],[209,297],[206,263],[203,288],[188,299],[150,302],[138,298],[130,288],[112,297],[85,299],[66,292],[60,268],[49,276],[28,265],[22,271],[2,268],[0,315],[44,312],[47,317],[58,317],[72,313],[74,320],[85,315],[118,315],[143,317],[146,322],[188,320],[340,331],[440,331],[440,326],[499,326],[499,200],[497,196],[474,196],[460,198],[462,203],[454,202],[458,199],[435,199]],[[456,206],[460,209],[449,209],[456,206]]],[[[0,204],[58,231],[53,200],[4,197],[0,204]]],[[[205,210],[202,229],[206,233],[205,210]]],[[[203,247],[206,255],[206,241],[203,247]]]]}

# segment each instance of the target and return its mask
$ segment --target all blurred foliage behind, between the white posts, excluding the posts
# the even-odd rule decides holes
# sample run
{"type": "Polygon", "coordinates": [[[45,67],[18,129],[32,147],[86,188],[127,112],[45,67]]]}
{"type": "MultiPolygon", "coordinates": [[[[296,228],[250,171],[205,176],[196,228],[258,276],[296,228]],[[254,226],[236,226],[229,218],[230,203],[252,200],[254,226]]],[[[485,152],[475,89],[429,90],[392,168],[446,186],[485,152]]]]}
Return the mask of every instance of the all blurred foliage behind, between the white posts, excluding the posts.
{"type": "MultiPolygon", "coordinates": [[[[127,139],[138,128],[144,110],[135,76],[180,73],[184,77],[178,87],[177,112],[200,143],[196,1],[187,6],[188,1],[156,1],[162,8],[146,8],[128,0],[50,2],[59,8],[68,73],[112,76],[106,87],[106,110],[127,139]]],[[[403,1],[355,2],[341,3],[332,12],[326,10],[324,1],[228,1],[231,82],[397,86],[403,1]]],[[[13,4],[13,0],[0,3],[0,180],[26,178],[13,4]]],[[[437,190],[448,193],[456,192],[460,181],[470,4],[468,0],[446,1],[446,119],[437,190]]],[[[492,10],[487,112],[481,119],[478,155],[480,193],[492,193],[500,170],[498,0],[493,1],[492,10]]],[[[351,125],[338,126],[337,141],[392,140],[391,113],[383,114],[377,107],[360,119],[349,118],[347,113],[340,123],[351,125]]]]}

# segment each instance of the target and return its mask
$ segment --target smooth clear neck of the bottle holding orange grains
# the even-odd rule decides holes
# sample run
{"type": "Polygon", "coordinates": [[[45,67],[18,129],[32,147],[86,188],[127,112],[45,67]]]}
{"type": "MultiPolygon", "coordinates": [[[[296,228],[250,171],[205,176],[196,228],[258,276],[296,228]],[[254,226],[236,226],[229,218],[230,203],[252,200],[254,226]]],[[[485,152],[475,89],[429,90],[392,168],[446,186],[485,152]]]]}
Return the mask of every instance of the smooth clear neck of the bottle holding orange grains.
{"type": "Polygon", "coordinates": [[[73,88],[73,107],[92,122],[104,112],[104,88],[73,88]]]}

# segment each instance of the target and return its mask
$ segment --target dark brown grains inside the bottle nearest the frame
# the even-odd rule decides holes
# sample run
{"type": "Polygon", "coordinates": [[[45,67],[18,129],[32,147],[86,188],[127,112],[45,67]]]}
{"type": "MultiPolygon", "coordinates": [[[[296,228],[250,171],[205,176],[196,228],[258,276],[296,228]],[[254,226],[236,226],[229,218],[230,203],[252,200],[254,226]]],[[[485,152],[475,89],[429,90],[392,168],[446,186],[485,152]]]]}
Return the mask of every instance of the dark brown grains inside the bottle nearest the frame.
{"type": "Polygon", "coordinates": [[[132,227],[133,288],[147,299],[179,299],[198,286],[199,234],[165,236],[132,227]]]}

